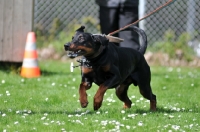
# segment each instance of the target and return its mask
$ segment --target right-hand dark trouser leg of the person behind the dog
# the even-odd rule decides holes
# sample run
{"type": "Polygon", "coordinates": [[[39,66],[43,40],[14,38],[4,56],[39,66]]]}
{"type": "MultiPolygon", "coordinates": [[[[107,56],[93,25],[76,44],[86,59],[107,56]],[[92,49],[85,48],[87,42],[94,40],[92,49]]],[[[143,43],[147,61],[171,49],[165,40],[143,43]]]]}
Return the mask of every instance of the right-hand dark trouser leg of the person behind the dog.
{"type": "MultiPolygon", "coordinates": [[[[138,6],[135,7],[122,7],[119,15],[120,28],[133,23],[138,20],[138,6]]],[[[138,25],[137,25],[138,26],[138,25]]],[[[119,37],[124,39],[124,42],[120,43],[121,47],[130,47],[133,49],[139,49],[139,36],[136,32],[122,31],[119,32],[119,37]]]]}

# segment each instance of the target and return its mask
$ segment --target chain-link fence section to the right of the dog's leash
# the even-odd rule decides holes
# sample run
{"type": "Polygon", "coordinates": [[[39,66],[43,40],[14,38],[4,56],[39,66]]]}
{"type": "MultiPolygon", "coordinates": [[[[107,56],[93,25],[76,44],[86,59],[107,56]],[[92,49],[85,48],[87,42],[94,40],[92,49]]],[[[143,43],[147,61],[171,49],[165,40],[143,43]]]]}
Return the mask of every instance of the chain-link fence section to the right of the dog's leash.
{"type": "MultiPolygon", "coordinates": [[[[145,12],[151,12],[166,0],[145,1],[145,12]]],[[[176,36],[188,32],[193,39],[200,39],[200,2],[198,0],[176,0],[145,20],[144,28],[149,40],[162,38],[166,30],[172,29],[176,36]]]]}

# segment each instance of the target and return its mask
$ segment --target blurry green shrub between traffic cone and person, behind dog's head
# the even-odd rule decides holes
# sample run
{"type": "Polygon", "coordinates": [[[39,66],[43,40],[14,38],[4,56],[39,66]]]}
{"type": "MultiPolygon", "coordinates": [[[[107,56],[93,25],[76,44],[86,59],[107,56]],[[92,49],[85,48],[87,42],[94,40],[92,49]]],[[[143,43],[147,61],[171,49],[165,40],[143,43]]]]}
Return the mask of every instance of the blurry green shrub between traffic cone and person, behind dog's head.
{"type": "Polygon", "coordinates": [[[36,25],[35,33],[37,35],[38,48],[47,47],[51,44],[57,52],[62,53],[64,51],[63,45],[66,42],[71,41],[74,31],[81,26],[79,23],[82,23],[86,27],[92,27],[92,29],[95,31],[99,31],[97,21],[90,16],[82,18],[81,22],[73,20],[73,22],[69,23],[65,30],[62,31],[59,29],[61,23],[62,22],[58,18],[55,18],[52,22],[51,28],[48,31],[45,31],[42,25],[36,25]]]}

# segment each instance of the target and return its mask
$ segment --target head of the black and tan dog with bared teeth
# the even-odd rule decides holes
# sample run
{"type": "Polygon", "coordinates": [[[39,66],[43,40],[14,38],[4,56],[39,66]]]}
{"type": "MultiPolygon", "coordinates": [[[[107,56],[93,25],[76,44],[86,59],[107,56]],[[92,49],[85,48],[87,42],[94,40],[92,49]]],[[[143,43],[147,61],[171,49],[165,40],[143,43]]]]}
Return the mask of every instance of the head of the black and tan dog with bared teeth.
{"type": "Polygon", "coordinates": [[[96,57],[108,44],[108,39],[104,35],[85,33],[84,29],[84,26],[77,29],[72,41],[64,45],[65,50],[70,51],[68,53],[70,58],[96,57]]]}

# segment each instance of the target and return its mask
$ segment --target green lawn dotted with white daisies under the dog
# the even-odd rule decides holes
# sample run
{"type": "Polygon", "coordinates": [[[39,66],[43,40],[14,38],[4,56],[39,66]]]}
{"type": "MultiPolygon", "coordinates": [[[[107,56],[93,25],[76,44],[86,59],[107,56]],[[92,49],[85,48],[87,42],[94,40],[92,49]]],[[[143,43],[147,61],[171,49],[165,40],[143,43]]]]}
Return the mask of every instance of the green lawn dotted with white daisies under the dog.
{"type": "Polygon", "coordinates": [[[93,111],[97,86],[88,90],[89,105],[78,102],[80,69],[68,62],[40,62],[42,76],[24,79],[0,70],[0,131],[8,132],[194,132],[200,131],[200,69],[152,66],[152,89],[158,110],[131,86],[131,109],[122,109],[114,89],[99,111],[93,111]]]}

